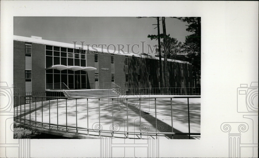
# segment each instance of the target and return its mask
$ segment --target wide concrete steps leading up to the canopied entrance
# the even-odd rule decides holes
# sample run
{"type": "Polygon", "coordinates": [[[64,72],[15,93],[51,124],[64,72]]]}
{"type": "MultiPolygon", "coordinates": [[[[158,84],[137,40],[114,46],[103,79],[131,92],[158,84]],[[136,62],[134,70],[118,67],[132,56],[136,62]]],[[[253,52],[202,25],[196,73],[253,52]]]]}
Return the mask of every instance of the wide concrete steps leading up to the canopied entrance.
{"type": "Polygon", "coordinates": [[[66,97],[117,97],[117,96],[120,96],[116,91],[114,91],[112,89],[66,90],[66,92],[63,92],[63,94],[66,97]]]}

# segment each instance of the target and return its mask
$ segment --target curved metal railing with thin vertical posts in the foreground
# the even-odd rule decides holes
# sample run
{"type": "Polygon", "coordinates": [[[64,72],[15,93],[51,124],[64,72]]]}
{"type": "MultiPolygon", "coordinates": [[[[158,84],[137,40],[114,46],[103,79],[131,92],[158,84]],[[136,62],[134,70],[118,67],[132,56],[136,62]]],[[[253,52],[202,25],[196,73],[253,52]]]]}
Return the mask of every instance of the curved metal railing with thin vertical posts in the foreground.
{"type": "MultiPolygon", "coordinates": [[[[105,132],[105,133],[111,133],[112,134],[112,136],[113,136],[113,134],[114,133],[127,133],[127,137],[128,137],[128,135],[129,135],[129,133],[131,134],[131,133],[133,133],[133,134],[135,134],[135,133],[140,133],[140,135],[141,134],[146,134],[146,135],[152,135],[152,134],[155,134],[156,136],[157,135],[160,135],[160,134],[171,134],[172,136],[173,135],[175,135],[175,134],[186,134],[186,135],[189,135],[189,139],[190,139],[190,135],[200,135],[200,133],[191,133],[190,132],[190,112],[189,112],[189,98],[200,98],[200,96],[181,96],[181,97],[177,97],[177,96],[174,96],[174,97],[159,97],[159,96],[157,96],[157,97],[150,97],[149,99],[154,99],[155,100],[155,120],[156,120],[156,132],[144,132],[144,131],[129,131],[128,130],[128,123],[127,123],[127,130],[126,131],[115,131],[115,130],[103,130],[102,129],[102,131],[101,130],[97,130],[97,129],[90,129],[89,127],[87,127],[87,128],[83,128],[83,127],[78,127],[77,126],[77,110],[76,110],[76,126],[68,126],[67,125],[67,123],[66,123],[66,125],[61,125],[61,124],[59,124],[58,123],[58,112],[57,112],[57,124],[53,124],[53,123],[50,123],[50,118],[49,118],[49,123],[46,123],[46,122],[43,122],[43,114],[41,115],[42,116],[42,121],[40,122],[40,121],[37,121],[36,120],[36,113],[37,113],[37,106],[36,106],[36,103],[37,102],[35,102],[35,121],[34,120],[31,120],[31,119],[26,119],[25,118],[25,116],[26,116],[26,109],[25,109],[25,104],[24,104],[24,118],[22,118],[22,114],[21,114],[21,107],[22,107],[22,104],[21,104],[21,98],[23,98],[24,97],[24,99],[26,98],[26,97],[29,97],[30,98],[30,118],[31,118],[31,100],[33,100],[33,98],[35,98],[35,100],[37,100],[36,98],[41,98],[41,109],[43,108],[43,104],[42,104],[42,102],[43,102],[43,98],[46,98],[46,100],[47,100],[47,98],[56,98],[56,100],[57,100],[57,111],[58,111],[58,99],[66,99],[66,109],[67,109],[67,99],[71,99],[71,98],[75,98],[76,99],[76,101],[75,101],[75,103],[76,103],[76,107],[77,107],[77,99],[87,99],[87,113],[88,113],[88,99],[98,99],[98,105],[99,105],[99,125],[100,125],[100,99],[112,99],[112,127],[113,127],[113,125],[114,125],[114,123],[113,123],[113,118],[114,118],[114,114],[113,114],[113,99],[114,98],[118,98],[118,97],[109,97],[109,98],[102,98],[102,97],[45,97],[45,96],[14,96],[14,99],[15,100],[17,100],[17,98],[19,99],[20,98],[20,100],[19,100],[19,103],[20,103],[20,117],[18,117],[18,106],[14,106],[14,110],[13,110],[13,114],[14,114],[14,118],[16,118],[16,122],[18,122],[18,119],[20,120],[20,122],[21,122],[21,120],[24,120],[24,124],[26,124],[26,121],[27,122],[35,122],[35,124],[36,123],[38,123],[38,125],[39,124],[41,124],[42,125],[42,128],[44,127],[43,126],[43,124],[48,124],[49,125],[49,130],[51,130],[51,125],[53,125],[53,126],[57,126],[57,131],[59,131],[59,128],[58,127],[66,127],[66,129],[67,129],[67,131],[66,132],[68,132],[68,128],[74,128],[74,129],[76,129],[76,134],[78,134],[78,130],[87,130],[87,132],[88,132],[88,135],[89,135],[89,130],[90,131],[95,131],[95,132],[99,132],[99,136],[101,135],[101,132],[105,132]],[[172,99],[173,98],[187,98],[187,100],[188,100],[188,126],[189,126],[189,132],[188,133],[175,133],[174,131],[173,131],[173,120],[171,121],[171,125],[172,125],[172,131],[171,132],[159,132],[159,131],[157,131],[157,117],[156,117],[156,99],[157,98],[170,98],[171,99],[171,120],[172,120],[172,99]],[[15,115],[15,108],[16,108],[16,115],[15,115]]],[[[141,98],[138,98],[138,97],[127,97],[126,98],[126,101],[128,102],[128,99],[141,99],[141,98]]],[[[38,103],[39,104],[39,103],[38,103]]],[[[126,104],[127,105],[127,107],[128,107],[128,103],[126,104]]],[[[140,107],[140,109],[139,109],[139,111],[141,111],[141,107],[140,107]]],[[[28,112],[28,111],[27,111],[28,112]]],[[[41,110],[41,112],[43,113],[43,109],[41,110]]],[[[140,117],[141,117],[141,114],[139,113],[139,115],[140,115],[140,117]]],[[[127,116],[128,116],[128,113],[127,113],[127,116]]],[[[49,117],[50,117],[50,101],[49,101],[49,117]]],[[[89,120],[89,118],[88,118],[88,115],[87,115],[87,122],[88,122],[88,120],[89,120]]],[[[67,122],[67,110],[66,110],[66,122],[67,122]]],[[[128,117],[127,117],[127,122],[128,122],[128,117]]],[[[141,123],[141,120],[140,120],[140,123],[141,123]]]]}

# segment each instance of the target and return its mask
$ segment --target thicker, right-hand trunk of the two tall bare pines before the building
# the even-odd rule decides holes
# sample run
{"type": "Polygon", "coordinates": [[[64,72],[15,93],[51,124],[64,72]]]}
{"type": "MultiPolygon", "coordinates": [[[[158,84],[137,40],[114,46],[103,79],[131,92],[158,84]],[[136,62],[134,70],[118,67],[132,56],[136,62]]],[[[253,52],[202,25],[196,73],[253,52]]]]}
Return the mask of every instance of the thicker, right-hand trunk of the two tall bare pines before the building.
{"type": "Polygon", "coordinates": [[[162,17],[162,25],[163,25],[163,43],[164,43],[164,87],[165,87],[165,92],[166,94],[168,94],[168,76],[167,76],[167,72],[168,72],[168,67],[167,67],[167,50],[166,50],[166,22],[165,22],[165,18],[162,17]]]}

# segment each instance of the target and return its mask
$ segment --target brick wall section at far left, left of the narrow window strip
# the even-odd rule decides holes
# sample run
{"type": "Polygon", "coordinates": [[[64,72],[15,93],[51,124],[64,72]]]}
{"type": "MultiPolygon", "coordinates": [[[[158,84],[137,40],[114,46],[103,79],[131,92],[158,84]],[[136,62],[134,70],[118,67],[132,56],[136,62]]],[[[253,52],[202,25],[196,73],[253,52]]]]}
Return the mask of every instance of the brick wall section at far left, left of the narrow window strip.
{"type": "Polygon", "coordinates": [[[25,42],[13,41],[13,84],[25,94],[25,42]]]}

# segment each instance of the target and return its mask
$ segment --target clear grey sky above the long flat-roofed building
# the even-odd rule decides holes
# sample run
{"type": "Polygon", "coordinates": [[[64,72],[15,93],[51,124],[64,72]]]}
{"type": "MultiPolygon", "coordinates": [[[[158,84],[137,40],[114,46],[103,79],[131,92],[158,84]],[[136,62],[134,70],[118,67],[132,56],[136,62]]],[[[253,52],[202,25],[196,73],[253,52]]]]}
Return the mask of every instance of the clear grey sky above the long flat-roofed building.
{"type": "MultiPolygon", "coordinates": [[[[162,18],[160,20],[160,33],[163,33],[162,18]]],[[[149,34],[157,35],[156,25],[152,25],[157,24],[157,20],[152,17],[14,17],[13,21],[13,34],[17,36],[39,36],[71,44],[78,41],[80,45],[80,41],[84,41],[84,45],[99,44],[94,45],[99,48],[100,44],[105,44],[104,49],[112,44],[108,49],[118,50],[124,46],[123,51],[130,53],[151,53],[150,49],[158,44],[158,41],[147,38],[149,34]]],[[[166,33],[182,43],[185,36],[192,34],[186,31],[186,22],[170,17],[165,21],[166,33]]],[[[150,55],[154,56],[154,53],[150,55]]]]}

